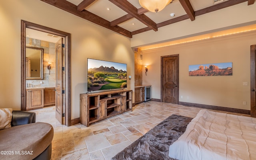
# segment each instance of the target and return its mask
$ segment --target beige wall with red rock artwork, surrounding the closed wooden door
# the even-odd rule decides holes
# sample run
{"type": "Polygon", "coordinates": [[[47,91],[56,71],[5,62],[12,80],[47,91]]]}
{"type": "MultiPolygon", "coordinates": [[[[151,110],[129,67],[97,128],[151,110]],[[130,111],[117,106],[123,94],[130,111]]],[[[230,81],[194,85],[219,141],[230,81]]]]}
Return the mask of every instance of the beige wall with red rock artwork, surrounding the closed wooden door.
{"type": "Polygon", "coordinates": [[[250,45],[256,45],[256,31],[142,51],[148,65],[142,83],[151,84],[152,98],[160,99],[160,57],[178,54],[179,101],[250,110],[250,45]],[[222,62],[232,62],[232,76],[188,76],[189,65],[222,62]]]}

